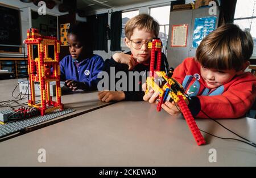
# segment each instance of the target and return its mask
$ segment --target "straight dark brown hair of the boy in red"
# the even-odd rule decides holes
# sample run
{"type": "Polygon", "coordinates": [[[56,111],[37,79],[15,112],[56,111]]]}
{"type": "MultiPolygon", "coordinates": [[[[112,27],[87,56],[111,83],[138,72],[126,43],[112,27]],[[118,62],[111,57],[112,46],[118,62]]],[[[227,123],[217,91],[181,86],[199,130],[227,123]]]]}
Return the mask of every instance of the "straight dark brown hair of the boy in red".
{"type": "Polygon", "coordinates": [[[209,69],[239,71],[253,53],[253,38],[234,24],[224,24],[205,37],[196,60],[209,69]]]}

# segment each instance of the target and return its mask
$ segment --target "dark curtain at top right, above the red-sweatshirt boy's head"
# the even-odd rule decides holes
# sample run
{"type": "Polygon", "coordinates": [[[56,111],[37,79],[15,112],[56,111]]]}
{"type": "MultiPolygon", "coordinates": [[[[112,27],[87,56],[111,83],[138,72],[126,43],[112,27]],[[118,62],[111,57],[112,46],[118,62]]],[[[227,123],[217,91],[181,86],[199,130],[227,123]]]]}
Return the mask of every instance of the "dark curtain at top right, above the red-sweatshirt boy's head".
{"type": "Polygon", "coordinates": [[[218,26],[225,23],[234,22],[234,13],[236,11],[237,0],[226,1],[221,0],[220,5],[220,20],[218,26]]]}

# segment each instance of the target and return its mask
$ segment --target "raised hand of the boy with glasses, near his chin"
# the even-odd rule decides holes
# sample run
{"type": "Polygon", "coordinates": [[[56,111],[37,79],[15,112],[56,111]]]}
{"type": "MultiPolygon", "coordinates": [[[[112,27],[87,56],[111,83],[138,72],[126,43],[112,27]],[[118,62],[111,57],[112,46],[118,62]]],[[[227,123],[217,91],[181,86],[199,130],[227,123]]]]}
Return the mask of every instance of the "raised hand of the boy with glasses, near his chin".
{"type": "Polygon", "coordinates": [[[127,64],[129,66],[128,70],[133,70],[137,63],[137,60],[133,57],[133,55],[125,53],[115,53],[113,55],[113,59],[115,60],[115,62],[127,64]]]}

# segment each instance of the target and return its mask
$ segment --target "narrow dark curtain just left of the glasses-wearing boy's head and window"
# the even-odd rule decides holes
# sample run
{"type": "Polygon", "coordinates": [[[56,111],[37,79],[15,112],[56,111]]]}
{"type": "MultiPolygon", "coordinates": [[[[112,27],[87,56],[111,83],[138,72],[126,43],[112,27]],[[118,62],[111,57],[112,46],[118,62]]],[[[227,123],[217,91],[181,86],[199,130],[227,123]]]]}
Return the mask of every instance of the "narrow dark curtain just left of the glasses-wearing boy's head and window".
{"type": "Polygon", "coordinates": [[[111,29],[110,29],[110,50],[121,50],[121,35],[122,35],[122,11],[113,12],[111,14],[111,29]]]}

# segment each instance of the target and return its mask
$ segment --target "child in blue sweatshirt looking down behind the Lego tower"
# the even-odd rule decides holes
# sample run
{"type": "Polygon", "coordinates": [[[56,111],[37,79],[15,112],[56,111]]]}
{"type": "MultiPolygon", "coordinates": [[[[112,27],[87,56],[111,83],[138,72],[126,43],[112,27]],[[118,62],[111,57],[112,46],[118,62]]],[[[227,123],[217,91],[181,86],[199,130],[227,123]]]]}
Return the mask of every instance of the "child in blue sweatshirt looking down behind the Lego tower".
{"type": "Polygon", "coordinates": [[[104,66],[101,56],[93,54],[87,23],[73,24],[68,30],[70,55],[60,61],[61,81],[72,90],[97,90],[97,75],[104,66]]]}

